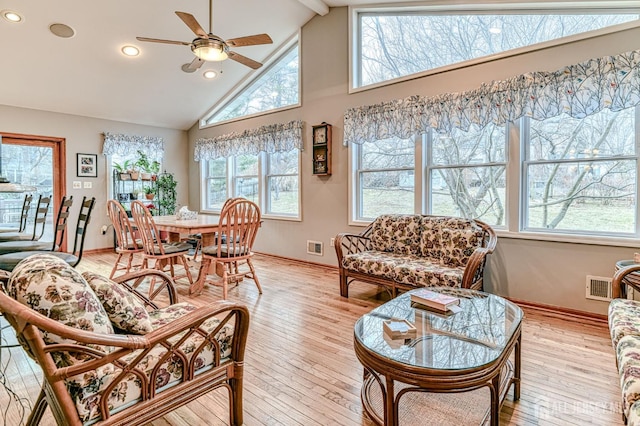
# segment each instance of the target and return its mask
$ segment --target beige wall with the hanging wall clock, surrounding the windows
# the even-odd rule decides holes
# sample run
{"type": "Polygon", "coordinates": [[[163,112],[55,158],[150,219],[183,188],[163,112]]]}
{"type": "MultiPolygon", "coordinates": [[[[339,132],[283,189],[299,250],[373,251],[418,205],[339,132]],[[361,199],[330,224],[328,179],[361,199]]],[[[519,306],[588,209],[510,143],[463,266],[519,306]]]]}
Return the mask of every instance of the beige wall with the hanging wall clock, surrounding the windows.
{"type": "MultiPolygon", "coordinates": [[[[348,151],[342,146],[343,114],[353,106],[374,104],[410,95],[436,95],[478,87],[529,71],[553,71],[564,65],[633,50],[640,30],[627,30],[590,41],[519,55],[465,69],[428,76],[391,86],[348,94],[348,11],[331,9],[312,19],[302,30],[302,107],[237,121],[208,129],[189,130],[189,204],[199,205],[198,164],[194,142],[265,124],[304,120],[305,147],[311,126],[323,121],[333,127],[333,175],[312,175],[307,149],[302,155],[301,222],[266,220],[256,250],[311,262],[336,264],[329,240],[338,232],[359,232],[348,225],[348,151]],[[323,257],[306,254],[306,240],[325,243],[323,257]]],[[[611,276],[616,260],[633,256],[631,248],[501,238],[491,256],[485,289],[530,302],[605,313],[607,304],[585,299],[586,275],[611,276]]],[[[336,292],[338,282],[336,280],[336,292]]]]}

